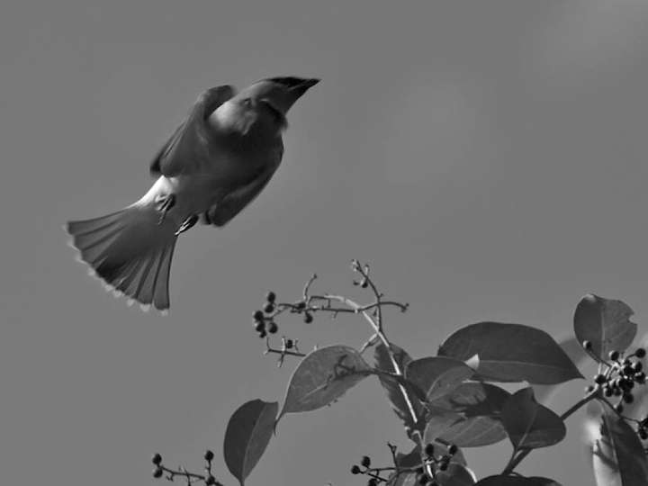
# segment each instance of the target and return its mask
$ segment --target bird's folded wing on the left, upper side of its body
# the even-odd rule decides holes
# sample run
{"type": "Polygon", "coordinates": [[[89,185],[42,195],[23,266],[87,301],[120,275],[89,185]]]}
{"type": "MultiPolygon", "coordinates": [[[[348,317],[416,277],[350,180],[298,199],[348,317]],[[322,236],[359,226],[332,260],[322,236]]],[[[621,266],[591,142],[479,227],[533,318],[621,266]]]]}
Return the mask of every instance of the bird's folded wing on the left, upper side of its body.
{"type": "Polygon", "coordinates": [[[153,157],[150,174],[172,177],[190,173],[205,157],[209,157],[205,121],[234,94],[234,87],[230,85],[213,87],[202,93],[186,119],[153,157]]]}

